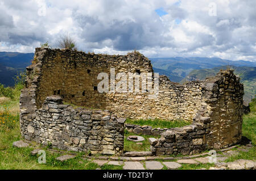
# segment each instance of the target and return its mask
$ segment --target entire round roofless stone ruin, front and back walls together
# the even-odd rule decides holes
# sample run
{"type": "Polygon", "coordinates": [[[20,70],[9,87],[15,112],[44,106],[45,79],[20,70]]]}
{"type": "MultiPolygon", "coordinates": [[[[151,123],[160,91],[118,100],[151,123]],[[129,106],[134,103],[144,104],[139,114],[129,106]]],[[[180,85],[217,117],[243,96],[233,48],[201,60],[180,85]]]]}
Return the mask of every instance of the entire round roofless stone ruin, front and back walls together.
{"type": "Polygon", "coordinates": [[[115,73],[152,72],[150,60],[138,52],[109,56],[36,48],[34,64],[27,68],[27,86],[20,96],[22,136],[43,144],[52,142],[60,149],[122,153],[123,123],[118,123],[118,118],[126,117],[193,121],[192,128],[168,129],[152,142],[154,154],[191,154],[241,140],[243,86],[233,71],[222,71],[216,77],[187,85],[160,76],[158,99],[148,99],[148,92],[100,94],[94,90],[101,81],[97,80],[98,73],[110,74],[110,68],[115,68],[115,73]],[[53,103],[51,99],[58,101],[53,103]],[[77,111],[62,102],[86,108],[77,111]],[[50,104],[57,106],[50,108],[50,104]],[[91,112],[87,114],[90,120],[82,119],[82,110],[91,112]],[[106,120],[108,114],[112,116],[106,120]],[[94,131],[102,133],[96,135],[94,131]],[[108,138],[118,138],[119,142],[106,141],[108,138]]]}

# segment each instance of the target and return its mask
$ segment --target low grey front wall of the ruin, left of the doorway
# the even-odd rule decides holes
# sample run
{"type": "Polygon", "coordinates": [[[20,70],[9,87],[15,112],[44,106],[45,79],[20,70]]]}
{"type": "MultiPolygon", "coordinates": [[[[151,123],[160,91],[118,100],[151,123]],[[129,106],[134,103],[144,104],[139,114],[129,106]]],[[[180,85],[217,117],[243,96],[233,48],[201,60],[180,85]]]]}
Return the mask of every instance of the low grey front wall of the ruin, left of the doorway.
{"type": "Polygon", "coordinates": [[[121,154],[125,119],[117,119],[109,111],[72,108],[60,96],[48,96],[35,119],[22,113],[22,136],[43,145],[93,154],[121,154]]]}

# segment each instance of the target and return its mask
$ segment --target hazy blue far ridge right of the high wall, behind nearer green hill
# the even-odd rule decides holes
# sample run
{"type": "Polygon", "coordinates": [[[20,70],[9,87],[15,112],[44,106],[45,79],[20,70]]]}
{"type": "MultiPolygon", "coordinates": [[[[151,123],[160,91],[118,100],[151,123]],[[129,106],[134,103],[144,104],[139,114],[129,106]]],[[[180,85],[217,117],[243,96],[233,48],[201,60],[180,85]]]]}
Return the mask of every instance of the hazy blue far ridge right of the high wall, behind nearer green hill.
{"type": "Polygon", "coordinates": [[[256,62],[231,61],[221,58],[202,58],[202,57],[172,57],[172,58],[150,58],[155,72],[167,75],[172,82],[180,82],[192,70],[212,69],[218,66],[249,66],[256,67],[256,62]]]}

